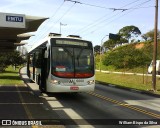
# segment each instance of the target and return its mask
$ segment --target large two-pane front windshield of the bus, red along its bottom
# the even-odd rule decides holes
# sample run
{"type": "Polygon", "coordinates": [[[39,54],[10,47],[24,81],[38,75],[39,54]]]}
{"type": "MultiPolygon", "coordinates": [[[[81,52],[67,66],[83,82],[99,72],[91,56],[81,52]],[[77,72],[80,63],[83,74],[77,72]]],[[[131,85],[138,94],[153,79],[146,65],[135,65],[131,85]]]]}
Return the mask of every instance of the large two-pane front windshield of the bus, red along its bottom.
{"type": "Polygon", "coordinates": [[[87,78],[94,75],[92,49],[52,47],[52,74],[58,77],[87,78]]]}

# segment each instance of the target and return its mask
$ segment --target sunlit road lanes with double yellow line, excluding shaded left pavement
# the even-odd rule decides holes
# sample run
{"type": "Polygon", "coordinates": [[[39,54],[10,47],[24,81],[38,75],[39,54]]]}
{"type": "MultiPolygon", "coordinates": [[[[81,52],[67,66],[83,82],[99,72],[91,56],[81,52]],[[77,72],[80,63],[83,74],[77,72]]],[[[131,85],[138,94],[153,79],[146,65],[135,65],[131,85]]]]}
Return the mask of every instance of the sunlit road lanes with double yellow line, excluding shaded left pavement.
{"type": "MultiPolygon", "coordinates": [[[[92,121],[95,121],[91,123],[93,127],[113,127],[113,125],[100,125],[100,123],[107,124],[109,121],[114,122],[121,119],[124,121],[128,119],[131,121],[160,119],[160,98],[100,84],[96,85],[95,92],[76,95],[49,94],[48,96],[48,98],[56,98],[56,101],[50,101],[50,105],[61,118],[93,119],[92,121]]],[[[87,124],[87,121],[83,123],[87,124]]],[[[157,128],[158,125],[118,125],[114,127],[157,128]]]]}

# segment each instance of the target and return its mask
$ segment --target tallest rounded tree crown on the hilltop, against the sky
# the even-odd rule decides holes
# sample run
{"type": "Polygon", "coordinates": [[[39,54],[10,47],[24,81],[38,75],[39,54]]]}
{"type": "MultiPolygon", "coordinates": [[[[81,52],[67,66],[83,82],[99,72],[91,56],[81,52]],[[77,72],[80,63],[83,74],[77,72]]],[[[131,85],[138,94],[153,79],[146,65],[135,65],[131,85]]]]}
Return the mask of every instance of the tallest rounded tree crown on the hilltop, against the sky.
{"type": "Polygon", "coordinates": [[[138,27],[131,25],[125,26],[122,29],[120,29],[118,34],[129,41],[131,37],[140,35],[141,31],[138,27]]]}

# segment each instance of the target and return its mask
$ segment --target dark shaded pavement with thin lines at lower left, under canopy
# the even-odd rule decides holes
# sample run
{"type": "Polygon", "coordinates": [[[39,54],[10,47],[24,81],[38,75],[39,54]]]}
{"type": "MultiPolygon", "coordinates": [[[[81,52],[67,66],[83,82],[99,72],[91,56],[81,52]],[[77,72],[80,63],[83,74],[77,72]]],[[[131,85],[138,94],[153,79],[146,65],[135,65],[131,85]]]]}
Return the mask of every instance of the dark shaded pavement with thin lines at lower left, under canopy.
{"type": "Polygon", "coordinates": [[[26,85],[0,85],[0,127],[33,127],[32,121],[33,125],[41,125],[42,121],[45,123],[48,119],[62,124],[54,111],[45,109],[45,104],[45,101],[26,85]],[[23,122],[25,123],[22,124],[23,122]]]}

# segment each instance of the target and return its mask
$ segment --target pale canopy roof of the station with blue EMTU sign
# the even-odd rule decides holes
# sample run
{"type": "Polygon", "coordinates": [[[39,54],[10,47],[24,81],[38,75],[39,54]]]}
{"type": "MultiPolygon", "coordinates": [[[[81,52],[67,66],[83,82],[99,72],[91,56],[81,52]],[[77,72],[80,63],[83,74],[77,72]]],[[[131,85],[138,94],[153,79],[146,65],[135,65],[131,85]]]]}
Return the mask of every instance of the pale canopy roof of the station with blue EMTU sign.
{"type": "Polygon", "coordinates": [[[24,14],[0,13],[0,52],[13,51],[22,40],[29,39],[48,18],[24,14]]]}

